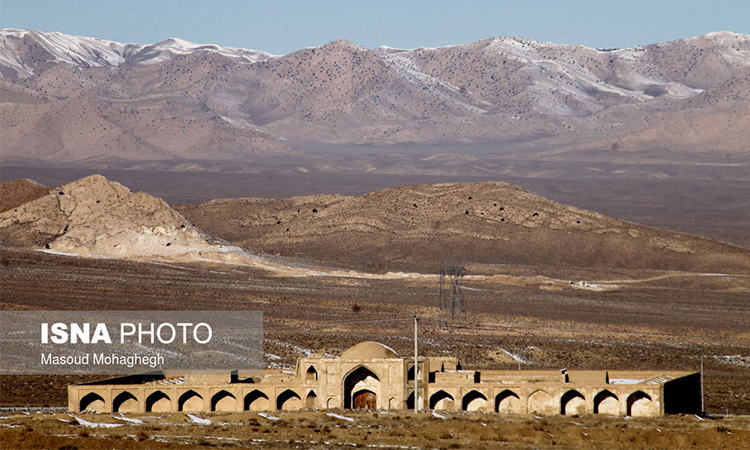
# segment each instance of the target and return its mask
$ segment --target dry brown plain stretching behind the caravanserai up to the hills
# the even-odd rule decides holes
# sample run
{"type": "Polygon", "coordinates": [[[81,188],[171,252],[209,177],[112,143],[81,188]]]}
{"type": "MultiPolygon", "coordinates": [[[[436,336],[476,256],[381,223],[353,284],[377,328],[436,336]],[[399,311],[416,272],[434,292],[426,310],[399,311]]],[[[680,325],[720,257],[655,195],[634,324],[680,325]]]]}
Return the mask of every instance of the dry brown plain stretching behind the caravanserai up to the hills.
{"type": "MultiPolygon", "coordinates": [[[[378,340],[408,355],[412,314],[426,355],[465,367],[699,370],[706,410],[750,413],[750,279],[662,272],[504,268],[467,278],[467,317],[441,327],[436,278],[273,277],[226,264],[95,260],[2,249],[4,309],[262,310],[266,362],[306,349],[340,354],[378,340]],[[610,290],[567,280],[606,281],[610,290]],[[300,315],[300,311],[304,311],[300,315]]],[[[469,267],[471,270],[472,268],[469,267]]],[[[2,404],[62,406],[69,379],[2,377],[2,404]]]]}

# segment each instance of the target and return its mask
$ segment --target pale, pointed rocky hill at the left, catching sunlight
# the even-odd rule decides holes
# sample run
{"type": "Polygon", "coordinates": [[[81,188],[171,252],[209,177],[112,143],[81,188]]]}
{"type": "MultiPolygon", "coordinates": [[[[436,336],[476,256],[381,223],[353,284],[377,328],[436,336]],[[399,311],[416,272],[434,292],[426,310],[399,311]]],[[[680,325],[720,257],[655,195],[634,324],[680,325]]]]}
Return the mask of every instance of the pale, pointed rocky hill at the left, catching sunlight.
{"type": "MultiPolygon", "coordinates": [[[[29,184],[27,191],[34,189],[29,184]]],[[[2,186],[4,199],[8,185],[2,186]]],[[[163,200],[134,194],[99,175],[1,213],[0,239],[5,245],[123,259],[194,260],[231,251],[207,240],[163,200]]]]}

